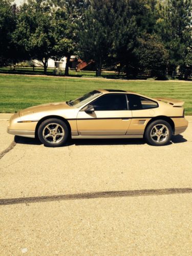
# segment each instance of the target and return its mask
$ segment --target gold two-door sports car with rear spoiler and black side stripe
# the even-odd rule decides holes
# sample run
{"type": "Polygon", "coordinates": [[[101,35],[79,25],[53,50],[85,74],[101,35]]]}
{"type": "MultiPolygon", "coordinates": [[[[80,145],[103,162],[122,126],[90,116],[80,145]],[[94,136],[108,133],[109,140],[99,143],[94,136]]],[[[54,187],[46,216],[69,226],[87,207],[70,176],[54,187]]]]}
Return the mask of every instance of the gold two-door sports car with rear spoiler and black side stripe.
{"type": "Polygon", "coordinates": [[[145,138],[151,145],[168,143],[184,132],[184,101],[150,98],[122,90],[95,90],[75,100],[21,110],[8,133],[35,138],[46,146],[61,146],[68,138],[145,138]]]}

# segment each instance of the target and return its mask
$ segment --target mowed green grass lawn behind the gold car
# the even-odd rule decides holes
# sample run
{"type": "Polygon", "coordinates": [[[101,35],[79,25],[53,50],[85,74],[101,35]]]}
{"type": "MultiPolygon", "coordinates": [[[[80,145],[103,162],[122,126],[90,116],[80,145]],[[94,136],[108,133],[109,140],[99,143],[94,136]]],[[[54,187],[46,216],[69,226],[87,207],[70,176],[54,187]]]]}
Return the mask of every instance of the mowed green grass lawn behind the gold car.
{"type": "Polygon", "coordinates": [[[0,112],[13,113],[29,106],[75,99],[95,89],[122,89],[150,97],[185,101],[185,114],[192,115],[192,82],[105,80],[0,75],[0,112]]]}

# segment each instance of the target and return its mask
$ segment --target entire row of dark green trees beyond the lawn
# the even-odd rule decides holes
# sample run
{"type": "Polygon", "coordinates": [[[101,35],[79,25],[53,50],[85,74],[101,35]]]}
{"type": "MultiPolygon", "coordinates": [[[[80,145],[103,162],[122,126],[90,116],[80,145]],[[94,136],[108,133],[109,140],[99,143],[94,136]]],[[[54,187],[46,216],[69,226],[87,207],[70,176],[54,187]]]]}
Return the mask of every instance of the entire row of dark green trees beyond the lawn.
{"type": "Polygon", "coordinates": [[[71,55],[93,60],[96,75],[129,78],[192,72],[192,0],[0,0],[0,65],[71,55]]]}

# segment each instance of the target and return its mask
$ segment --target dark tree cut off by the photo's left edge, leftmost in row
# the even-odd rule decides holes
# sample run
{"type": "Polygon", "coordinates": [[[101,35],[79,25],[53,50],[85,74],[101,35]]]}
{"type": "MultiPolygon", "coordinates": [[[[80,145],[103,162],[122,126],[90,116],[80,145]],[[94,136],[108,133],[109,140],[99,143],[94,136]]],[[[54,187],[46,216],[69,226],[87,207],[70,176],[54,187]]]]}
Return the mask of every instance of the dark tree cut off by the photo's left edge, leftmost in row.
{"type": "Polygon", "coordinates": [[[12,33],[16,26],[16,6],[11,1],[0,0],[0,65],[7,65],[16,59],[12,33]]]}

